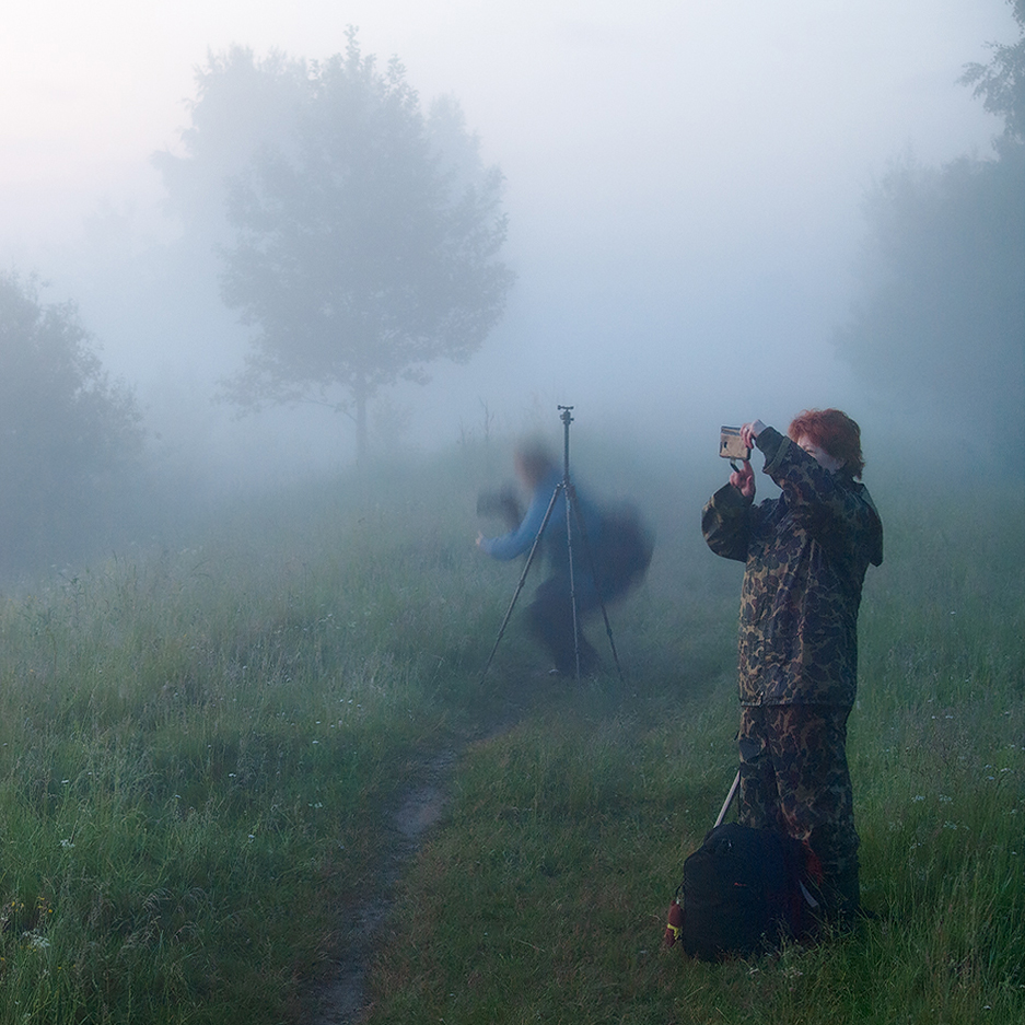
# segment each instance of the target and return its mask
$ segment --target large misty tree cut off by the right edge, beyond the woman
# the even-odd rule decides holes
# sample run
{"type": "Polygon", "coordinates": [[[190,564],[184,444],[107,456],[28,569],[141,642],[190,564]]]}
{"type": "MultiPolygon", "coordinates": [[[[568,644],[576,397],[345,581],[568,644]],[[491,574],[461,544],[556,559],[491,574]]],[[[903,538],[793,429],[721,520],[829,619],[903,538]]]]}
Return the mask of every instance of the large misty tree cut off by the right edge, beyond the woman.
{"type": "Polygon", "coordinates": [[[994,453],[1025,445],[1025,0],[1011,2],[1022,39],[962,79],[1004,118],[995,155],[905,162],[872,189],[862,296],[838,333],[878,392],[994,453]]]}

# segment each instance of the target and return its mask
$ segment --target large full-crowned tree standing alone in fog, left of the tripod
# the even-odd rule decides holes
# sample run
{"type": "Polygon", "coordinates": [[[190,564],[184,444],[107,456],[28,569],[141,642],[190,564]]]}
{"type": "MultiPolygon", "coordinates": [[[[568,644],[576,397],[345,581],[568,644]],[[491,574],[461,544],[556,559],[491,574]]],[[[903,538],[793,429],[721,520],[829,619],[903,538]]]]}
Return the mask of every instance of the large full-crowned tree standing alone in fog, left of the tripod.
{"type": "Polygon", "coordinates": [[[362,457],[374,394],[468,359],[503,313],[502,176],[481,167],[454,101],[424,116],[403,66],[378,70],[351,28],[323,63],[212,60],[185,138],[194,159],[208,113],[221,130],[232,104],[252,110],[253,83],[293,114],[284,132],[280,118],[246,129],[255,152],[229,179],[222,296],[256,334],[225,395],[243,409],[326,403],[354,419],[362,457]]]}

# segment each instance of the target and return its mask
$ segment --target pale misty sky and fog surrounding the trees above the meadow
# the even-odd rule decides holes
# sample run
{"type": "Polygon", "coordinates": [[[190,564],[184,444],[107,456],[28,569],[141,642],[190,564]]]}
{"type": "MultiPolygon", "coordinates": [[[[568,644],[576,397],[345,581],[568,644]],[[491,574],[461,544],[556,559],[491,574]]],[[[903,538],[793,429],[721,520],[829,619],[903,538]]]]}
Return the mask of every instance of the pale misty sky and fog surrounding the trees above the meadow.
{"type": "Polygon", "coordinates": [[[180,226],[150,163],[182,152],[209,51],[325,58],[348,24],[424,103],[459,101],[505,175],[517,275],[469,363],[388,393],[382,445],[451,444],[486,416],[510,433],[550,416],[557,436],[557,403],[581,428],[709,451],[722,422],[838,405],[871,445],[886,410],[830,346],[855,298],[862,199],[895,158],[988,152],[1001,126],[957,79],[987,40],[1016,37],[1004,0],[19,4],[0,60],[0,257],[78,303],[166,459],[244,482],[352,458],[351,424],[323,408],[236,420],[210,401],[246,329],[212,256],[174,280],[180,226]]]}

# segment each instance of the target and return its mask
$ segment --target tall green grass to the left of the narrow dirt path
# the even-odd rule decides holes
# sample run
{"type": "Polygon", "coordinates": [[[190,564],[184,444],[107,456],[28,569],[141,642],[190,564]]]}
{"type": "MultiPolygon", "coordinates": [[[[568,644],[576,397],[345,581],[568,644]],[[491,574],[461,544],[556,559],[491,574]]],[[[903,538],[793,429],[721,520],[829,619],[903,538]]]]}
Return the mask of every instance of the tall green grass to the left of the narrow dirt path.
{"type": "Polygon", "coordinates": [[[300,1014],[473,647],[422,505],[307,491],[2,599],[0,1021],[300,1014]]]}

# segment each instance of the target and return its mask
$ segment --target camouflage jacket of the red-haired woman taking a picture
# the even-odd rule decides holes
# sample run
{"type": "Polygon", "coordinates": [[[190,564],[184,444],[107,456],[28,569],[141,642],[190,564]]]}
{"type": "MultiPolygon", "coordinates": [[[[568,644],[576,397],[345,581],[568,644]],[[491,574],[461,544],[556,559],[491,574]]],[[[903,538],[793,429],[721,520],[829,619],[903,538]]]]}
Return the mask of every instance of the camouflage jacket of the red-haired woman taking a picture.
{"type": "Polygon", "coordinates": [[[861,586],[883,561],[883,524],[842,469],[829,473],[772,428],[756,444],[780,498],[755,505],[726,485],[701,514],[709,548],[746,563],[741,703],[851,706],[861,586]]]}

